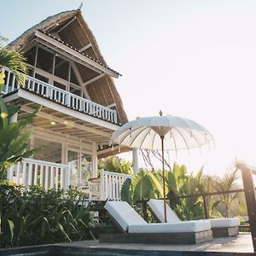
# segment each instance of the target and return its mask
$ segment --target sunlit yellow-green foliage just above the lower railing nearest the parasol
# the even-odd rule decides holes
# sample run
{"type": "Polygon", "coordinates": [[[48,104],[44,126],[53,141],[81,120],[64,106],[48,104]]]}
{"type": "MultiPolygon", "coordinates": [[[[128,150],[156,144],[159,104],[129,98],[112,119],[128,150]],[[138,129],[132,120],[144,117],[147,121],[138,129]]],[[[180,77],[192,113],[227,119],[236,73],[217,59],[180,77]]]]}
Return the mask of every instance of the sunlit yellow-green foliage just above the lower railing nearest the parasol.
{"type": "Polygon", "coordinates": [[[132,174],[133,169],[131,162],[120,159],[118,156],[111,156],[98,161],[98,169],[104,169],[109,172],[118,172],[125,174],[132,174]]]}

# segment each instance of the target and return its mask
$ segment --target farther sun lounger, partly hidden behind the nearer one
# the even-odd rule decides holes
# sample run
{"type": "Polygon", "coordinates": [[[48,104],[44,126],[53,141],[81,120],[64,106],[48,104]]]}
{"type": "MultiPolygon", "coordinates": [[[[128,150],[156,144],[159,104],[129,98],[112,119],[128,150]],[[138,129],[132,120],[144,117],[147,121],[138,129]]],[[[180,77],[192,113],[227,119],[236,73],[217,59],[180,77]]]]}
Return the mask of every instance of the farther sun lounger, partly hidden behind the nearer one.
{"type": "MultiPolygon", "coordinates": [[[[165,222],[164,216],[164,201],[150,199],[148,207],[154,212],[154,215],[161,223],[165,222]]],[[[166,204],[166,219],[167,223],[180,222],[182,223],[171,207],[166,204]]],[[[238,235],[238,226],[240,224],[238,218],[210,218],[213,237],[236,236],[238,235]]]]}

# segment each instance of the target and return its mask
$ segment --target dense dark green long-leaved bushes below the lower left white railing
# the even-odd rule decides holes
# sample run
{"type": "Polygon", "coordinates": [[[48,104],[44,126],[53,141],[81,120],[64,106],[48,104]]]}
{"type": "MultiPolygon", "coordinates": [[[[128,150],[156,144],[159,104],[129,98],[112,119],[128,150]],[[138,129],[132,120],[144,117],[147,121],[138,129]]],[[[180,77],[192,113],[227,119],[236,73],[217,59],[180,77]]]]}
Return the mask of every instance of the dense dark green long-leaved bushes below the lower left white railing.
{"type": "Polygon", "coordinates": [[[78,191],[29,189],[0,184],[0,247],[79,241],[91,238],[94,221],[78,191]]]}

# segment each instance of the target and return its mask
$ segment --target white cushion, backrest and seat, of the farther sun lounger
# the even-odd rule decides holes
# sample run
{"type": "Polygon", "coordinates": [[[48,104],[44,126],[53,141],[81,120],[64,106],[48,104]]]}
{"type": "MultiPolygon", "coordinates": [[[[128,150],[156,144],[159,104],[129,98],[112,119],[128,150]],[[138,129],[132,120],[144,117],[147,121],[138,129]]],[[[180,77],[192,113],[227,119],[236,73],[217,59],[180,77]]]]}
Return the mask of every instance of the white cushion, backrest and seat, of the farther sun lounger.
{"type": "MultiPolygon", "coordinates": [[[[160,222],[165,222],[164,216],[164,201],[158,199],[150,199],[148,201],[148,207],[154,212],[155,216],[160,222]]],[[[166,218],[168,223],[182,222],[175,212],[172,211],[171,207],[166,204],[166,218]]],[[[239,218],[210,218],[212,228],[230,228],[236,227],[240,224],[239,218]]]]}

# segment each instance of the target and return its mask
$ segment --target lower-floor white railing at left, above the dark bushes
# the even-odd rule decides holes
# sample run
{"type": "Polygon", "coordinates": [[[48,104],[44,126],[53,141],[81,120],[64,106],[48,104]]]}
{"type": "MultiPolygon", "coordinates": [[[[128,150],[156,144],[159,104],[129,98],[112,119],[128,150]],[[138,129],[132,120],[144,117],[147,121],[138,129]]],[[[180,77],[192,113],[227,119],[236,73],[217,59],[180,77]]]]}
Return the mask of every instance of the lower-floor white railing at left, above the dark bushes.
{"type": "Polygon", "coordinates": [[[41,185],[44,189],[67,189],[70,174],[68,165],[24,159],[8,171],[8,179],[24,186],[41,185]]]}

